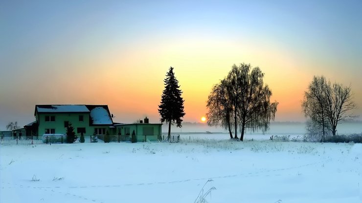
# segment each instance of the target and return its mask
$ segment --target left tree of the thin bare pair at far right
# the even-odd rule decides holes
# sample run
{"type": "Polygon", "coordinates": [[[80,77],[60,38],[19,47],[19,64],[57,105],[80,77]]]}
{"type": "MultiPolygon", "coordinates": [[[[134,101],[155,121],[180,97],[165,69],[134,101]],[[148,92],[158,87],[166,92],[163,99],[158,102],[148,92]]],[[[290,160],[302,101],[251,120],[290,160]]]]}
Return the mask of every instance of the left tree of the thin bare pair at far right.
{"type": "Polygon", "coordinates": [[[325,140],[325,131],[328,126],[326,116],[326,91],[329,86],[330,82],[326,81],[324,76],[314,76],[313,81],[308,85],[308,90],[304,92],[304,99],[302,102],[304,115],[310,119],[310,125],[307,126],[307,131],[313,131],[313,133],[316,134],[316,132],[319,131],[317,129],[311,130],[311,127],[320,128],[322,142],[325,140]]]}

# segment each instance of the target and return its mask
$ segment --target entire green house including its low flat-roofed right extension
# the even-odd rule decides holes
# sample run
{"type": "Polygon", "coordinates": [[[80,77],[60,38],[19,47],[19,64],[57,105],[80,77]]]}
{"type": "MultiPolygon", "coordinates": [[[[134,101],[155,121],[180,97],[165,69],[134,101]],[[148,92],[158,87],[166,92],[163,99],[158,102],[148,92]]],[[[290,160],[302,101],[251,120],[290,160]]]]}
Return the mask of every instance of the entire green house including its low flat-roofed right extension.
{"type": "Polygon", "coordinates": [[[147,117],[139,123],[114,123],[108,105],[35,105],[35,120],[24,126],[26,137],[40,139],[43,134],[66,134],[69,124],[79,137],[96,135],[111,142],[130,141],[135,132],[138,142],[157,141],[161,137],[161,123],[149,123],[147,117]]]}

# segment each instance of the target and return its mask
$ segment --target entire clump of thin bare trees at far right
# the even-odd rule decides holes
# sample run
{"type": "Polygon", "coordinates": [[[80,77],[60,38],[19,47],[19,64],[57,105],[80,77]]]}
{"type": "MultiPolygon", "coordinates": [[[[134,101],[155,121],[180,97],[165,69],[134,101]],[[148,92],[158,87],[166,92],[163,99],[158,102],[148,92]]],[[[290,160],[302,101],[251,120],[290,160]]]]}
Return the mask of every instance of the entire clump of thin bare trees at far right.
{"type": "Polygon", "coordinates": [[[304,93],[302,109],[307,118],[308,133],[321,134],[321,142],[325,141],[326,130],[336,135],[339,121],[354,118],[351,110],[356,108],[352,101],[351,87],[337,82],[331,84],[324,76],[314,76],[304,93]],[[319,128],[311,129],[311,128],[319,128]]]}

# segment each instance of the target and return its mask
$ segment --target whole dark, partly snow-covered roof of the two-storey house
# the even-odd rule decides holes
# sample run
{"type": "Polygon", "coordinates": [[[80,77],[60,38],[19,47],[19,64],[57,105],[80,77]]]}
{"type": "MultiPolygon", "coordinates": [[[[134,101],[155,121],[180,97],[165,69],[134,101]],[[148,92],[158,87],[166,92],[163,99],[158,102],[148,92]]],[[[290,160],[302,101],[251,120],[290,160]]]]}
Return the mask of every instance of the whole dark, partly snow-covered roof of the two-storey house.
{"type": "MultiPolygon", "coordinates": [[[[108,105],[35,105],[36,113],[90,113],[90,125],[112,125],[113,120],[108,105]]],[[[29,123],[31,124],[31,123],[29,123]]]]}

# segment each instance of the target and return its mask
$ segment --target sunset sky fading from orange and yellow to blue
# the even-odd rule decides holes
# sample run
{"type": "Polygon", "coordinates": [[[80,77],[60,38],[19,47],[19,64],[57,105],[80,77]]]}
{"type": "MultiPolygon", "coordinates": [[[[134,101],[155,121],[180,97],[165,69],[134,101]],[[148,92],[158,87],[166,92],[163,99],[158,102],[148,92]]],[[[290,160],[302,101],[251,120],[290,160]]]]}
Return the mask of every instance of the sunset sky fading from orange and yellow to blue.
{"type": "Polygon", "coordinates": [[[212,86],[243,62],[265,73],[276,121],[305,121],[314,75],[350,85],[362,116],[361,10],[361,0],[0,0],[0,129],[33,122],[36,104],[108,104],[114,122],[159,122],[170,66],[183,120],[200,122],[212,86]]]}

